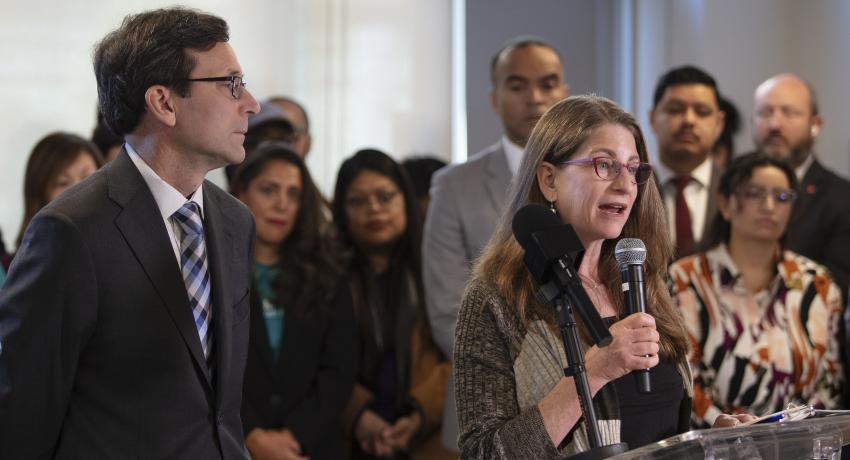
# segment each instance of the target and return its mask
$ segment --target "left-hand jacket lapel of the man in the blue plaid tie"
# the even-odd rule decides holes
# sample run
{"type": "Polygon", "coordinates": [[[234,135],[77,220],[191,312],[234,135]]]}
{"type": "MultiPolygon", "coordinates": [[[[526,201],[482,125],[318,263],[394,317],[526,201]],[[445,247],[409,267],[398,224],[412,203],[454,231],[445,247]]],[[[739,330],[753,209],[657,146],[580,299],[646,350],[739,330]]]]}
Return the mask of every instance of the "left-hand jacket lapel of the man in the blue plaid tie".
{"type": "Polygon", "coordinates": [[[168,240],[162,214],[141,173],[126,152],[119,154],[110,165],[107,187],[109,197],[123,208],[115,219],[115,225],[142,265],[183,336],[195,365],[207,377],[207,384],[210,385],[198,329],[189,307],[189,296],[168,240]]]}

